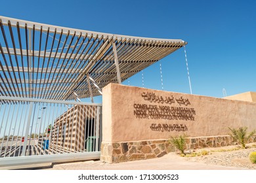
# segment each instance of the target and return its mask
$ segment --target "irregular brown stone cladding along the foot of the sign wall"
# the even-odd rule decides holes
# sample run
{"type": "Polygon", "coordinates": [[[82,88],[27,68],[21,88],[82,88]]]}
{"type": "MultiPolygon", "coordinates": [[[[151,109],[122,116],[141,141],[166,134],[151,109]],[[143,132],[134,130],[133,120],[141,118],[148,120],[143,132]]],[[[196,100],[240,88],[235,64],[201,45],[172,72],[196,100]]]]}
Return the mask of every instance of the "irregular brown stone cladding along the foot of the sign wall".
{"type": "MultiPolygon", "coordinates": [[[[256,142],[256,137],[251,139],[256,142]]],[[[211,137],[189,137],[186,139],[186,150],[197,148],[214,148],[238,144],[229,135],[211,137]]],[[[160,158],[169,152],[177,150],[171,146],[169,140],[136,141],[136,142],[102,142],[100,161],[119,163],[139,159],[160,158]]]]}

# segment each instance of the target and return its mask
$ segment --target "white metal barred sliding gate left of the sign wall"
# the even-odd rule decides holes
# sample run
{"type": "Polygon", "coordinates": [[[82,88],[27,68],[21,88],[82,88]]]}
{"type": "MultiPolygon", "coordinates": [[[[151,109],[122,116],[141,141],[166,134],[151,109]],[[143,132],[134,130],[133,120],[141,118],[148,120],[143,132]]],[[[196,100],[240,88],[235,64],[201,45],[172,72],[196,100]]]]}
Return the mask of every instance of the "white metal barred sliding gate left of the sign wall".
{"type": "Polygon", "coordinates": [[[0,167],[100,158],[102,105],[0,96],[0,167]]]}

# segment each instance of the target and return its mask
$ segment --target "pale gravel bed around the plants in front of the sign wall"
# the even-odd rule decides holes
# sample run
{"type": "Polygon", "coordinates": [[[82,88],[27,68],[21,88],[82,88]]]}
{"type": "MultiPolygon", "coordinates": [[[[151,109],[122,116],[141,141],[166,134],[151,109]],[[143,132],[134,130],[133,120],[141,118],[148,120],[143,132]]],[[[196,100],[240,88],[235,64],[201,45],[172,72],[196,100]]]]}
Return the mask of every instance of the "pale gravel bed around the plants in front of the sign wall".
{"type": "MultiPolygon", "coordinates": [[[[247,169],[256,169],[256,164],[251,163],[249,160],[249,154],[256,152],[256,143],[248,144],[249,148],[240,150],[231,150],[226,152],[219,152],[220,150],[230,150],[237,148],[238,146],[227,146],[223,148],[208,148],[205,149],[209,152],[206,156],[196,156],[186,158],[187,161],[198,161],[213,165],[223,165],[225,167],[243,167],[247,169]]],[[[201,152],[196,150],[196,152],[201,152]]]]}

